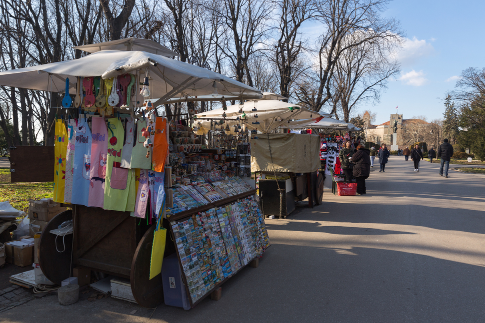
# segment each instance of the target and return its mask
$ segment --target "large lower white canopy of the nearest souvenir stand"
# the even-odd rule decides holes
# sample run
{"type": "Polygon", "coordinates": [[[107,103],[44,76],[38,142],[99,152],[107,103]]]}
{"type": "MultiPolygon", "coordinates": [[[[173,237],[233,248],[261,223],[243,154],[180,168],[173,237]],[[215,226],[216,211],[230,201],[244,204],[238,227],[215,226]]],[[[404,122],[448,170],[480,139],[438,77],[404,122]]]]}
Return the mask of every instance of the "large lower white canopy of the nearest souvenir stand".
{"type": "Polygon", "coordinates": [[[217,88],[220,99],[224,96],[261,97],[253,87],[208,69],[187,64],[146,51],[120,51],[106,49],[87,56],[62,62],[30,66],[0,72],[0,85],[34,90],[62,92],[65,78],[69,78],[69,93],[75,93],[76,77],[99,76],[103,79],[125,73],[144,76],[150,72],[151,97],[159,98],[154,106],[174,96],[210,95],[217,88]]]}

